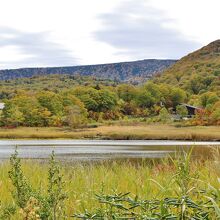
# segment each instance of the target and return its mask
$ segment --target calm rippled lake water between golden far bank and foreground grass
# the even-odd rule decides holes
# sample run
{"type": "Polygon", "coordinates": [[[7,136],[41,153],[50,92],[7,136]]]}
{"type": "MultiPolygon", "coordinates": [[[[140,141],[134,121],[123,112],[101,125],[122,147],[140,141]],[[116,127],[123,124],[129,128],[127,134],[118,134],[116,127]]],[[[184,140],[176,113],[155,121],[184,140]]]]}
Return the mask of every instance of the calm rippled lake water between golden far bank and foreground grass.
{"type": "Polygon", "coordinates": [[[0,160],[17,148],[19,157],[46,160],[55,151],[63,161],[102,161],[117,159],[163,158],[193,146],[194,157],[209,157],[220,142],[126,141],[126,140],[0,140],[0,160]]]}

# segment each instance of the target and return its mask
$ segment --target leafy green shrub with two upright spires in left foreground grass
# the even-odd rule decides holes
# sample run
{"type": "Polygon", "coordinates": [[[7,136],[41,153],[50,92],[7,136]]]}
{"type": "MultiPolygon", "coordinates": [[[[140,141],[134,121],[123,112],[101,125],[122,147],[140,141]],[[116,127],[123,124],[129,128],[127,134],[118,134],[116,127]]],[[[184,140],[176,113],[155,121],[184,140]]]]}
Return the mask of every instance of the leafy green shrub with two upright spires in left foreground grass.
{"type": "Polygon", "coordinates": [[[24,176],[17,151],[11,156],[10,164],[9,177],[14,186],[12,195],[16,206],[20,208],[23,219],[55,220],[65,217],[63,207],[66,199],[64,181],[60,167],[55,161],[54,152],[50,158],[46,195],[41,194],[40,190],[35,190],[24,176]]]}

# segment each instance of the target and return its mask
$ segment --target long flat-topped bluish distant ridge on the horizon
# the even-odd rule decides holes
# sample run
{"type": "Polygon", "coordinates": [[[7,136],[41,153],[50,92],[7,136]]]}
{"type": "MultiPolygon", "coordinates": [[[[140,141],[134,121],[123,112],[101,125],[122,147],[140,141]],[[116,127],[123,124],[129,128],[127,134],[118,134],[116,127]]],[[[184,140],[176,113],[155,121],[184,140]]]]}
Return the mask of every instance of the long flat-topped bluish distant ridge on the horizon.
{"type": "Polygon", "coordinates": [[[32,77],[36,75],[68,74],[138,83],[143,81],[143,79],[151,78],[154,74],[163,72],[175,62],[176,60],[148,59],[86,66],[7,69],[0,70],[0,80],[32,77]]]}

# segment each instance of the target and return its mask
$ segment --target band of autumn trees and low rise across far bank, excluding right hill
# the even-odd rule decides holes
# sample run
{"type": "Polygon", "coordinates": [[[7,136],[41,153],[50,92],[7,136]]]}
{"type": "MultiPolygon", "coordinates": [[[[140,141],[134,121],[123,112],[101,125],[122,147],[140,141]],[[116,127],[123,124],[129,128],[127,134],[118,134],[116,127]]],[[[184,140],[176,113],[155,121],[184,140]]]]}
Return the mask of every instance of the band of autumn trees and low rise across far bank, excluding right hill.
{"type": "Polygon", "coordinates": [[[219,94],[208,87],[195,94],[190,89],[152,81],[134,86],[91,77],[51,75],[1,81],[0,97],[5,103],[1,125],[6,127],[80,128],[129,118],[169,123],[174,111],[181,118],[187,115],[181,103],[203,108],[187,121],[189,125],[220,122],[219,94]]]}

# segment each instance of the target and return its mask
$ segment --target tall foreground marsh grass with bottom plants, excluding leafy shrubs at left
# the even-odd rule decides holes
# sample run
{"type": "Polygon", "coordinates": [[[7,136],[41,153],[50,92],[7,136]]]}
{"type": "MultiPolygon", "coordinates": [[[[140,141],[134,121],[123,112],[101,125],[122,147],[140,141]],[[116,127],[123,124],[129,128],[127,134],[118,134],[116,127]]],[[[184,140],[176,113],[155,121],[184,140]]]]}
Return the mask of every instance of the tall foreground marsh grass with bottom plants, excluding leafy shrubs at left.
{"type": "MultiPolygon", "coordinates": [[[[74,216],[73,218],[81,219],[114,219],[114,215],[115,219],[121,219],[125,212],[128,214],[132,211],[133,217],[134,213],[137,213],[133,219],[142,219],[141,215],[158,220],[177,219],[175,216],[178,216],[178,219],[192,219],[188,216],[194,216],[195,213],[200,215],[200,218],[194,219],[218,219],[219,148],[213,148],[213,151],[214,159],[209,160],[192,160],[190,153],[186,153],[184,157],[175,160],[165,158],[150,162],[143,160],[140,163],[126,161],[63,164],[60,174],[65,182],[63,191],[68,195],[62,206],[66,218],[74,216]],[[150,209],[143,209],[143,204],[148,204],[150,209]],[[136,207],[133,207],[134,205],[136,207]],[[123,207],[133,208],[126,210],[123,207]],[[207,213],[208,217],[205,218],[207,213]],[[95,218],[98,215],[102,217],[95,218]]],[[[42,196],[48,195],[48,185],[51,183],[48,179],[50,167],[48,163],[21,161],[24,176],[33,191],[42,196]]],[[[4,219],[24,219],[12,196],[15,188],[9,181],[9,170],[11,166],[8,162],[1,164],[0,210],[4,216],[7,216],[7,212],[14,212],[10,218],[4,219]]],[[[25,207],[37,204],[32,199],[25,207]]]]}

